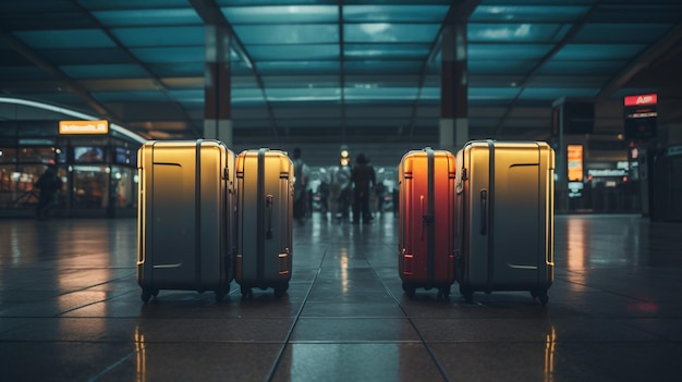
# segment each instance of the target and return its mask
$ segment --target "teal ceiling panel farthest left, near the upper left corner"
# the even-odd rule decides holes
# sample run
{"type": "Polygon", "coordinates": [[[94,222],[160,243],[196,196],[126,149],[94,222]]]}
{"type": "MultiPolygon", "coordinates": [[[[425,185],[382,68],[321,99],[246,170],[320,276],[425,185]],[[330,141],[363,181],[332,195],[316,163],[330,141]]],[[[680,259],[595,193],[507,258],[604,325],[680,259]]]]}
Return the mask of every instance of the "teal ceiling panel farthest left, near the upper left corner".
{"type": "Polygon", "coordinates": [[[115,44],[100,29],[21,30],[14,35],[34,49],[110,48],[115,44]]]}

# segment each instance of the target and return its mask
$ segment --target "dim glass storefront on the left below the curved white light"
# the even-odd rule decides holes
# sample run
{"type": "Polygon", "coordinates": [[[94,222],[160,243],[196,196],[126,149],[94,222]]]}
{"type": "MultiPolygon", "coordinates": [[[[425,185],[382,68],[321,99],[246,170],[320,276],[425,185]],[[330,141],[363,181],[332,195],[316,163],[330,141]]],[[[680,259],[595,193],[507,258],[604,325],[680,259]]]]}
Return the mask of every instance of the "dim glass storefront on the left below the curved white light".
{"type": "Polygon", "coordinates": [[[34,184],[49,164],[62,181],[50,215],[135,217],[141,143],[100,122],[102,130],[78,131],[60,121],[0,121],[0,217],[35,214],[34,184]]]}

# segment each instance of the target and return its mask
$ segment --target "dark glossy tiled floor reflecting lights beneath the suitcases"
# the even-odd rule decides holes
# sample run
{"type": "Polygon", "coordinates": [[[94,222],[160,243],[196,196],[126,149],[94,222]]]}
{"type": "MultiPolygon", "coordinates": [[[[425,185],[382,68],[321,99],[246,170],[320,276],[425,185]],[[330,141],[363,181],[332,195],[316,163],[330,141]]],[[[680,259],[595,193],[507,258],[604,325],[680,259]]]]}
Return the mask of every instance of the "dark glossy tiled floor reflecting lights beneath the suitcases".
{"type": "Polygon", "coordinates": [[[1,381],[678,381],[682,224],[558,215],[546,307],[397,271],[397,220],[294,227],[294,272],[144,305],[135,220],[0,220],[1,381]]]}

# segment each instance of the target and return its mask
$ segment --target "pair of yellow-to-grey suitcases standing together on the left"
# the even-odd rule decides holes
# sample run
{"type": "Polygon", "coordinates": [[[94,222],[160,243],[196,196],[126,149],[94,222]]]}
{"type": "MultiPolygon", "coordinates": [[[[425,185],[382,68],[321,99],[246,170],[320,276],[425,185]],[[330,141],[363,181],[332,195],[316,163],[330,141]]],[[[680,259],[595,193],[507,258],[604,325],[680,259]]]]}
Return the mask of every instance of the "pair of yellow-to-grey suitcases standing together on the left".
{"type": "Polygon", "coordinates": [[[218,140],[147,141],[138,150],[137,283],[147,303],[160,289],[214,291],[232,280],[289,287],[293,163],[279,150],[234,156],[218,140]]]}

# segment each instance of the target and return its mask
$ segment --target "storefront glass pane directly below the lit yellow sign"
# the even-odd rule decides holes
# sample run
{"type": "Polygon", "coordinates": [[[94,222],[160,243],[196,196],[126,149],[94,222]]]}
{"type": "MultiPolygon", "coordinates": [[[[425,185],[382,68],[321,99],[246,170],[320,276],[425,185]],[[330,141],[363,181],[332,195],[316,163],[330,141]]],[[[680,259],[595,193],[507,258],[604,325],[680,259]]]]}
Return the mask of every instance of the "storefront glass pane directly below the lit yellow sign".
{"type": "Polygon", "coordinates": [[[73,167],[73,208],[106,208],[108,189],[108,167],[73,167]]]}

